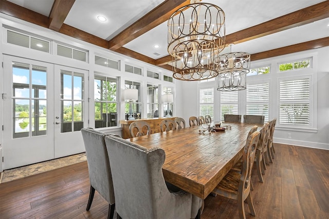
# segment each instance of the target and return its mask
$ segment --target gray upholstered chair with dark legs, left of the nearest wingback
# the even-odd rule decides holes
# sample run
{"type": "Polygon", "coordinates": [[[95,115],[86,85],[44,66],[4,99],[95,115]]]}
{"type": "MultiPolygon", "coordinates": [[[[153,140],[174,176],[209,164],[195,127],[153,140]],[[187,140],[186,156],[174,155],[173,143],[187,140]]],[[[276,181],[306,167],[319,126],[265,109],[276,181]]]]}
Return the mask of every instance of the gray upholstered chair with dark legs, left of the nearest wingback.
{"type": "MultiPolygon", "coordinates": [[[[86,210],[92,206],[95,190],[108,202],[107,218],[113,218],[115,198],[111,167],[105,145],[107,134],[93,129],[81,129],[89,172],[90,192],[86,210]]],[[[111,135],[111,134],[109,134],[111,135]]],[[[116,135],[119,137],[118,135],[116,135]]]]}

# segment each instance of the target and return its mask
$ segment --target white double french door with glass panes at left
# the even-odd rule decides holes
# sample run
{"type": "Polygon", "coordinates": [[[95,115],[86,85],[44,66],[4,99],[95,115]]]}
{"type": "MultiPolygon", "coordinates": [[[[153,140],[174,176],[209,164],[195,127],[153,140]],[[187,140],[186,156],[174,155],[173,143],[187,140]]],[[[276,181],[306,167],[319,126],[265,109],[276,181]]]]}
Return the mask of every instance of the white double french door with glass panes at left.
{"type": "Polygon", "coordinates": [[[88,72],[4,55],[4,170],[84,151],[88,72]]]}

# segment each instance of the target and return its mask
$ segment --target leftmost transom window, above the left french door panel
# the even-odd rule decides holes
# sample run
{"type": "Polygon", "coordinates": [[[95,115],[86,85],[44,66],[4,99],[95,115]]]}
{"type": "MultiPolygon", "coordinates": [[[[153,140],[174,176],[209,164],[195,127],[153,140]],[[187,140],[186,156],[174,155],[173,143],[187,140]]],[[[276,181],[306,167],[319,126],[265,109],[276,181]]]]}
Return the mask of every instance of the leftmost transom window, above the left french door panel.
{"type": "Polygon", "coordinates": [[[49,52],[49,42],[22,33],[7,30],[7,43],[49,52]]]}

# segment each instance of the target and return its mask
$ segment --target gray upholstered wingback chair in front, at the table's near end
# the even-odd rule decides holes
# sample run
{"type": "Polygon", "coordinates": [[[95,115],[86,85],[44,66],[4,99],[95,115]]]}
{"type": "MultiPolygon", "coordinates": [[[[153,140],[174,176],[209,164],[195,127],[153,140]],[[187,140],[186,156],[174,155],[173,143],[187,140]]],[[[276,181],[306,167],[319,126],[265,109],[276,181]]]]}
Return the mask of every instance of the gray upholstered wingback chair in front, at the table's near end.
{"type": "Polygon", "coordinates": [[[202,199],[168,189],[162,173],[165,151],[115,136],[106,137],[105,142],[118,218],[199,218],[202,199]]]}

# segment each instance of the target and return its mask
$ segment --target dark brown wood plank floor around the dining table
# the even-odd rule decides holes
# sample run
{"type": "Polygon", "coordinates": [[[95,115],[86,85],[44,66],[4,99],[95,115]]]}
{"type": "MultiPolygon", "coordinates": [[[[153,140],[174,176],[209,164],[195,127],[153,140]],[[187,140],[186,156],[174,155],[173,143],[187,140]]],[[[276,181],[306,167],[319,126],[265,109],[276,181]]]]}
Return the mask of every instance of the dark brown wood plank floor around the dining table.
{"type": "MultiPolygon", "coordinates": [[[[252,178],[253,217],[329,218],[329,151],[275,144],[264,183],[252,178]]],[[[0,218],[106,218],[108,204],[96,192],[86,211],[89,194],[87,163],[60,168],[0,184],[0,218]]],[[[115,214],[116,217],[116,214],[115,214]]],[[[221,196],[205,199],[202,219],[238,218],[237,204],[221,196]]]]}

